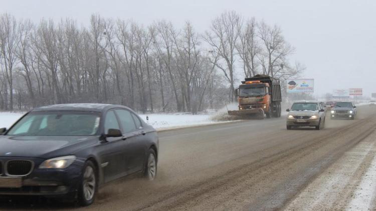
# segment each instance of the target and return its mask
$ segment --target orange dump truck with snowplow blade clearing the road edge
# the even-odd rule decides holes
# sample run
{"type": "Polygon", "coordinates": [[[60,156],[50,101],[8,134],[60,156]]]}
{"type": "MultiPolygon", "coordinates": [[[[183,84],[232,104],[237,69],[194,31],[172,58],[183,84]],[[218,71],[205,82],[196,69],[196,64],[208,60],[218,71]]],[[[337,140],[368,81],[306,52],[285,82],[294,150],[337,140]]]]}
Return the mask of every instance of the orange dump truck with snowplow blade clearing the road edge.
{"type": "Polygon", "coordinates": [[[229,110],[230,115],[257,115],[264,118],[281,116],[281,85],[278,79],[257,74],[247,77],[235,91],[239,101],[238,110],[229,110]]]}

